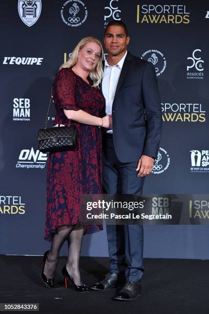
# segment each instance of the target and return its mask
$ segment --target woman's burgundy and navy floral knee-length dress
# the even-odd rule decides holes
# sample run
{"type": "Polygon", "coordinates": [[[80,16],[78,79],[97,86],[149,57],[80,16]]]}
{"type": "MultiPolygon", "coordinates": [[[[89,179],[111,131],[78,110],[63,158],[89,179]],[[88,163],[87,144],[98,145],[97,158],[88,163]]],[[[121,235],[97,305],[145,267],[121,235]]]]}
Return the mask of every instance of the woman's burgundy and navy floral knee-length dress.
{"type": "MultiPolygon", "coordinates": [[[[53,99],[56,107],[54,125],[68,125],[66,110],[82,109],[101,116],[103,96],[98,88],[76,75],[71,68],[62,68],[55,76],[53,99]]],[[[56,228],[80,222],[81,194],[101,194],[101,132],[97,126],[71,121],[77,130],[74,151],[50,153],[47,168],[47,212],[45,240],[51,241],[56,228]]],[[[85,225],[85,233],[100,231],[101,225],[85,225]]]]}

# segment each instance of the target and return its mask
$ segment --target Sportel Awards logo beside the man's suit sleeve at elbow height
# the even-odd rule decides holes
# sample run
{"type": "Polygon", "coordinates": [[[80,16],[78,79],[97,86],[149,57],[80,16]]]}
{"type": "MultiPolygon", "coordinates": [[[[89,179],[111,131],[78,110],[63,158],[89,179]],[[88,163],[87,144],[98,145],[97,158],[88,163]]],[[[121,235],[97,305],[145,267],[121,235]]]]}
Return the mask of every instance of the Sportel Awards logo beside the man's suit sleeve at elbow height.
{"type": "Polygon", "coordinates": [[[161,103],[163,122],[205,122],[202,104],[161,103]]]}

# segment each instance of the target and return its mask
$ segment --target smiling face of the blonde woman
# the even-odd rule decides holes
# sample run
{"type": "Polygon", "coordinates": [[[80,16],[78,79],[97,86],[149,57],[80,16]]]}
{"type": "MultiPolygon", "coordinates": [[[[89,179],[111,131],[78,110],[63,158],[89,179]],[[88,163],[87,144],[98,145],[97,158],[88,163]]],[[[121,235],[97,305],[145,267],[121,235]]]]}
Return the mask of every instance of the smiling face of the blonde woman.
{"type": "Polygon", "coordinates": [[[77,65],[85,71],[93,70],[101,55],[101,48],[96,43],[88,43],[79,50],[77,65]]]}

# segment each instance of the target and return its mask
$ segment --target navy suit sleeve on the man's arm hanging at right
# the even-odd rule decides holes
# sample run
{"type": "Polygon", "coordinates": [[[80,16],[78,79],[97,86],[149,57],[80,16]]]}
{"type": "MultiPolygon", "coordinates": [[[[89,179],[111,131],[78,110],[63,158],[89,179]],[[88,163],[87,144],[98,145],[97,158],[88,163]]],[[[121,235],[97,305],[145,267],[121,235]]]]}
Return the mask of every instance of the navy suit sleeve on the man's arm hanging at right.
{"type": "Polygon", "coordinates": [[[148,62],[142,78],[142,95],[147,119],[143,155],[157,157],[162,128],[162,110],[155,68],[148,62]]]}

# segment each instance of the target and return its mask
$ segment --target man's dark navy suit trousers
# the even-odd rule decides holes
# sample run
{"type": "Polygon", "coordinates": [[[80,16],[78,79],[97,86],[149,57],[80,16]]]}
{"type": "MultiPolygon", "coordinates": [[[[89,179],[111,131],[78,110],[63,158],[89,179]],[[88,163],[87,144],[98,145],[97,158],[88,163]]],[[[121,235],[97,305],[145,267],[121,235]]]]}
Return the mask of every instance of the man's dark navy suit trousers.
{"type": "MultiPolygon", "coordinates": [[[[137,178],[137,163],[121,163],[111,134],[103,134],[103,189],[107,194],[141,194],[144,178],[137,178]]],[[[111,272],[138,282],[143,275],[142,225],[107,225],[111,272]]]]}

